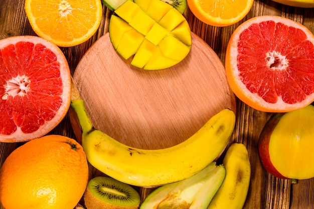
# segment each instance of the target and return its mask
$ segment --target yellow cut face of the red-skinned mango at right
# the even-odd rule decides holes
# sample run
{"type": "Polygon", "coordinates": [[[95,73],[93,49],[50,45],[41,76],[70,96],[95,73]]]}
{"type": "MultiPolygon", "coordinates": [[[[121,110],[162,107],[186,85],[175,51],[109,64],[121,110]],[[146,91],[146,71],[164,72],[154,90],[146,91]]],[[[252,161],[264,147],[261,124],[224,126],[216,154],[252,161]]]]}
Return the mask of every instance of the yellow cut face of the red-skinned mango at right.
{"type": "Polygon", "coordinates": [[[314,177],[314,107],[308,106],[288,114],[282,116],[271,134],[270,160],[285,177],[314,177]]]}

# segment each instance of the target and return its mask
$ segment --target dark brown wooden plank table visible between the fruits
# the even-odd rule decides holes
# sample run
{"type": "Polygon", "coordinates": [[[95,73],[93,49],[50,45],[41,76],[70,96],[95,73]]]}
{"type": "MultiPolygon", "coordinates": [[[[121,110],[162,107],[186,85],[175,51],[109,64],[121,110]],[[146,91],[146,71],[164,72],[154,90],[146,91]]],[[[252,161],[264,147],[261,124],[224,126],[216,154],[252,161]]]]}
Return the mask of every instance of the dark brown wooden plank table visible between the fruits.
{"type": "MultiPolygon", "coordinates": [[[[87,49],[104,33],[108,31],[108,20],[111,12],[103,7],[103,19],[98,31],[87,42],[71,48],[62,48],[73,75],[75,68],[87,49]]],[[[187,9],[185,17],[191,30],[201,37],[225,61],[225,52],[232,32],[247,19],[261,15],[277,15],[289,18],[306,26],[314,33],[314,9],[303,9],[284,6],[271,0],[255,0],[251,11],[239,23],[228,27],[213,27],[197,20],[187,9]]],[[[0,1],[0,39],[19,35],[34,35],[34,31],[26,17],[24,0],[0,1]]],[[[236,99],[237,120],[232,142],[246,145],[251,161],[251,184],[244,208],[266,209],[309,209],[314,208],[314,178],[300,180],[292,185],[289,180],[275,178],[268,174],[262,167],[258,153],[257,141],[259,134],[271,117],[271,113],[257,111],[240,100],[236,99]]],[[[51,131],[50,134],[60,134],[76,138],[70,123],[69,114],[51,131]]],[[[21,143],[0,143],[0,163],[21,143]]],[[[138,188],[139,192],[146,195],[147,191],[138,188]]],[[[4,208],[1,206],[1,208],[4,208]]]]}

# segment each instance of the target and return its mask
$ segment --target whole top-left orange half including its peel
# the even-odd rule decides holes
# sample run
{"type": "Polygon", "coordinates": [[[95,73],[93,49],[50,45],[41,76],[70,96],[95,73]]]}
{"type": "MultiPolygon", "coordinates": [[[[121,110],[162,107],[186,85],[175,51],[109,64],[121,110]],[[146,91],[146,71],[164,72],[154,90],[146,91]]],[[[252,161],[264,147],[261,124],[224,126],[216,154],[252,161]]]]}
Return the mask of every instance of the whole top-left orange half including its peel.
{"type": "Polygon", "coordinates": [[[60,47],[87,41],[102,17],[101,0],[26,0],[25,11],[35,33],[60,47]]]}

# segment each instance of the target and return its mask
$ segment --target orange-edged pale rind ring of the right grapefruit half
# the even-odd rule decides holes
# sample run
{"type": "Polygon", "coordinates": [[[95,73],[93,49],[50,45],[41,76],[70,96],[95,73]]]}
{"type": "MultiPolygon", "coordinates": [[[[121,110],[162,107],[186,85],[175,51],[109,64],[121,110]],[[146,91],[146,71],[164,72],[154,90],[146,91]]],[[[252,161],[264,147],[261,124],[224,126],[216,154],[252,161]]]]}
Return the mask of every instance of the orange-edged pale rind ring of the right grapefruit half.
{"type": "MultiPolygon", "coordinates": [[[[304,26],[301,24],[298,24],[292,20],[282,18],[279,16],[260,16],[252,18],[243,24],[241,24],[232,34],[230,41],[228,43],[227,51],[226,51],[226,75],[227,80],[229,83],[230,88],[235,93],[235,95],[242,100],[244,103],[249,105],[250,107],[253,107],[254,109],[264,111],[264,112],[288,112],[296,109],[300,109],[314,101],[314,92],[307,95],[305,99],[303,99],[301,102],[288,104],[282,100],[281,97],[278,97],[278,101],[275,103],[269,103],[266,102],[262,97],[258,96],[256,93],[250,92],[245,84],[241,81],[238,73],[238,41],[240,39],[240,34],[248,30],[248,28],[252,24],[259,24],[261,22],[265,21],[273,21],[274,23],[283,23],[287,26],[292,26],[296,29],[299,29],[303,31],[306,36],[309,43],[314,45],[314,36],[313,34],[304,26]]],[[[265,52],[266,53],[266,52],[265,52]]],[[[310,58],[313,59],[313,58],[310,58]]],[[[266,62],[266,61],[265,61],[266,62]]],[[[251,65],[251,67],[253,64],[251,65]]],[[[248,71],[251,69],[248,69],[248,71]]],[[[314,68],[310,69],[309,71],[312,71],[314,73],[314,68]]],[[[313,84],[311,84],[314,86],[313,84]]],[[[314,90],[314,87],[313,87],[314,90]]]]}

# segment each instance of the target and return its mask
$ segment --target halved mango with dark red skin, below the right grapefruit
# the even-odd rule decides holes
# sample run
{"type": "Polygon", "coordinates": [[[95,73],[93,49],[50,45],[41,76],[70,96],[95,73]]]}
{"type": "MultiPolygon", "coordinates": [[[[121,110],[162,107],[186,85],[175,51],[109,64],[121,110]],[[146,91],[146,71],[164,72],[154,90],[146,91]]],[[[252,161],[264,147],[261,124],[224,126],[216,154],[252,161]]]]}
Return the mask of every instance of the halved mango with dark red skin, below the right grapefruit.
{"type": "Polygon", "coordinates": [[[312,105],[271,117],[258,142],[260,160],[270,174],[292,183],[314,177],[313,124],[312,105]]]}

